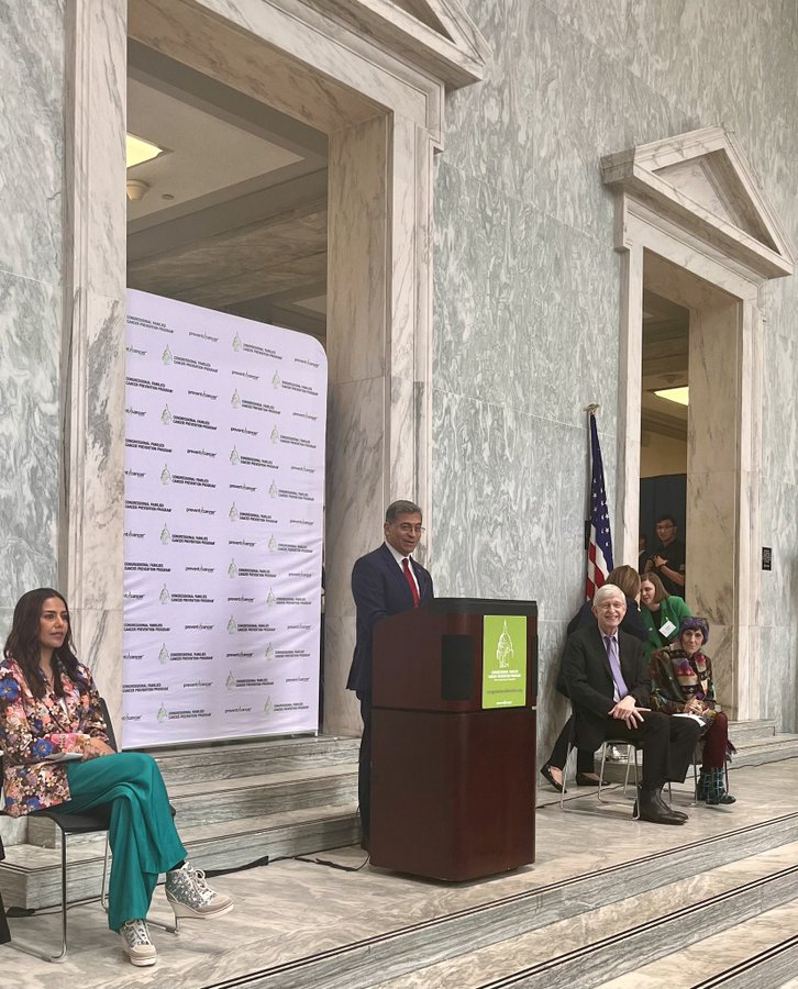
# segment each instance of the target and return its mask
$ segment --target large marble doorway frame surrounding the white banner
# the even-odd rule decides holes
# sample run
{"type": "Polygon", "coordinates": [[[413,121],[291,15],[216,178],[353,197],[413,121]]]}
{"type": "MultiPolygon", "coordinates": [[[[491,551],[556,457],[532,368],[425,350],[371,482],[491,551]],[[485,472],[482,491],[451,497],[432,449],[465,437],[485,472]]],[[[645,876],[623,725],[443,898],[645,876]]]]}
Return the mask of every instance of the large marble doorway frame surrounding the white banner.
{"type": "Polygon", "coordinates": [[[484,43],[453,0],[243,0],[234,9],[221,0],[82,0],[69,10],[73,312],[60,558],[81,652],[119,722],[129,37],[131,52],[169,59],[326,140],[324,729],[355,733],[356,705],[343,689],[352,563],[378,538],[394,498],[433,511],[432,157],[444,90],[480,77],[484,43]]]}

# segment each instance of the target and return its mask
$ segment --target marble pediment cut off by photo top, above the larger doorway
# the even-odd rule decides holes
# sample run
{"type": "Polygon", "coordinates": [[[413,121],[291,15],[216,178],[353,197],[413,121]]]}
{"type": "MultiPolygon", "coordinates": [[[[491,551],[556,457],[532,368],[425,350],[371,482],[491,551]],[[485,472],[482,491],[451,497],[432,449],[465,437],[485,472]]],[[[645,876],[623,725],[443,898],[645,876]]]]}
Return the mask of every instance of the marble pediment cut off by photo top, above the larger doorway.
{"type": "Polygon", "coordinates": [[[447,89],[478,82],[489,49],[461,0],[307,0],[439,79],[447,89]]]}

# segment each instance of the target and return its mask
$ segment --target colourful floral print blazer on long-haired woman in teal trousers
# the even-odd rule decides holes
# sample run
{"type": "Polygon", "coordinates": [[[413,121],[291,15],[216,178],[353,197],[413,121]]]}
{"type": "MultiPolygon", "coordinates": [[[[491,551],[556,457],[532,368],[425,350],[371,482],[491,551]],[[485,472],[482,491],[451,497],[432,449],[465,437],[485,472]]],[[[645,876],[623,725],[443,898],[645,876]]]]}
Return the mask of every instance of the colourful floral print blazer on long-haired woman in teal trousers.
{"type": "Polygon", "coordinates": [[[47,692],[40,699],[13,659],[0,664],[3,791],[12,818],[69,800],[66,765],[47,763],[47,756],[79,752],[90,737],[108,742],[91,674],[82,665],[78,670],[82,682],[60,674],[64,698],[47,692]]]}

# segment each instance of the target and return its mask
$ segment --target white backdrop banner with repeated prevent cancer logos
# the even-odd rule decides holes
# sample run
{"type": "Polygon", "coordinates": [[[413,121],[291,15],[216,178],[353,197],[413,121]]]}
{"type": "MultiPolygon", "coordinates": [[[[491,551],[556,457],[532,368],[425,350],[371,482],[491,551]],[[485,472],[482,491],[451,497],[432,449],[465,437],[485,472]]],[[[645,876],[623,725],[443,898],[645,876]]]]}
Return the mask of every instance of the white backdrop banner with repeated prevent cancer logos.
{"type": "Polygon", "coordinates": [[[128,293],[125,746],[315,731],[326,358],[128,293]]]}

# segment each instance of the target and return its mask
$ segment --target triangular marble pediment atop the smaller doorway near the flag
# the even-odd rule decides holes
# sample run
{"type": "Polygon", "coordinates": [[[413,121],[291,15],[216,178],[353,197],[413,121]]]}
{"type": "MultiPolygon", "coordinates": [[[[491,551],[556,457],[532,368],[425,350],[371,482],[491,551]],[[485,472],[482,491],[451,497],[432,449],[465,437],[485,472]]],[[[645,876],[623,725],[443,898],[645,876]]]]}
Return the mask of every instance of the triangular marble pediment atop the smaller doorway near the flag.
{"type": "Polygon", "coordinates": [[[649,202],[766,278],[796,251],[733,134],[705,127],[601,159],[605,185],[649,202]]]}

